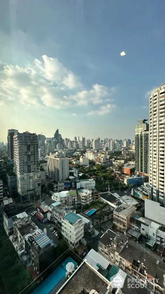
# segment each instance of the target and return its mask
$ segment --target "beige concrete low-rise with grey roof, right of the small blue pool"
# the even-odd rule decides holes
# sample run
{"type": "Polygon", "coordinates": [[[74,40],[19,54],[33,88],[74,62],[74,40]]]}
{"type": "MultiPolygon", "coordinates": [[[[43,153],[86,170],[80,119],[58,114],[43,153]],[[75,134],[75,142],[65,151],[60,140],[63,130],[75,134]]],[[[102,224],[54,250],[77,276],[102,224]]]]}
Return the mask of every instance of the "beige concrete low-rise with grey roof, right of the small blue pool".
{"type": "Polygon", "coordinates": [[[123,233],[129,229],[129,219],[135,213],[136,207],[122,203],[113,212],[113,223],[115,228],[123,233]]]}

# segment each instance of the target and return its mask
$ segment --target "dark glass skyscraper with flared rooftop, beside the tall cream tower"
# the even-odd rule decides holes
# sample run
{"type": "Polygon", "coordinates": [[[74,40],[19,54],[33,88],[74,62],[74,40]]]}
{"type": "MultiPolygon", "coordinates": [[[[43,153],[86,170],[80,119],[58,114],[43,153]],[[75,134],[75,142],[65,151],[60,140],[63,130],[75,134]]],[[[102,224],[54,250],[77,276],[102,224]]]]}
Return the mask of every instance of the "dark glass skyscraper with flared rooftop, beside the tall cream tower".
{"type": "Polygon", "coordinates": [[[139,119],[135,126],[135,171],[149,173],[149,124],[139,119]]]}

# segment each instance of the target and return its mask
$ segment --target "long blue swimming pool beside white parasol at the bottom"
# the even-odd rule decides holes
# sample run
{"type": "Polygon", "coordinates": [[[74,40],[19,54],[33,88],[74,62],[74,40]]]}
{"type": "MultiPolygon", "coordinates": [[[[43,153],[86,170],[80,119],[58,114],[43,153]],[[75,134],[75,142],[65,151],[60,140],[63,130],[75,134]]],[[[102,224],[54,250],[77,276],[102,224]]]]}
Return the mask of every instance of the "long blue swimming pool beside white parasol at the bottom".
{"type": "Polygon", "coordinates": [[[57,283],[66,276],[66,265],[68,262],[73,262],[75,267],[77,265],[77,263],[71,257],[68,257],[43,283],[41,283],[32,292],[32,294],[48,294],[55,287],[55,285],[57,285],[57,283]]]}

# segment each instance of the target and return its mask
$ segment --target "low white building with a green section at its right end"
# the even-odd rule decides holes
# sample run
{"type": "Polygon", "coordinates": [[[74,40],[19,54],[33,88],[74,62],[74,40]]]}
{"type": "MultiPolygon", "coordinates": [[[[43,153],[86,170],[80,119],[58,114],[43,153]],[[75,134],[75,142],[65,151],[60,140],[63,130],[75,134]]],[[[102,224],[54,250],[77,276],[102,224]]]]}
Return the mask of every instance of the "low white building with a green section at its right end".
{"type": "Polygon", "coordinates": [[[65,203],[68,206],[77,206],[77,193],[75,190],[54,193],[52,195],[52,200],[55,202],[60,201],[61,203],[65,203]]]}

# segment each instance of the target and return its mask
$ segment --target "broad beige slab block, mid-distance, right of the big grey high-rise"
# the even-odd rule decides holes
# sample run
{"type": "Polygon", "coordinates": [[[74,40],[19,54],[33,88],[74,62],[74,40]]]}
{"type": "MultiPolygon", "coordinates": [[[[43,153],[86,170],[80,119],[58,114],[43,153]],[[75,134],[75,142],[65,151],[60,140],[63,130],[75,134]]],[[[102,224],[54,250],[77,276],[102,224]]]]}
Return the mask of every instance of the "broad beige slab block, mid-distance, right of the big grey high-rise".
{"type": "Polygon", "coordinates": [[[69,178],[69,159],[50,154],[48,156],[48,176],[58,182],[69,178]]]}

